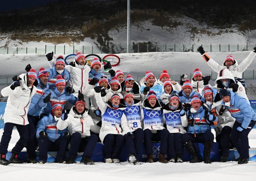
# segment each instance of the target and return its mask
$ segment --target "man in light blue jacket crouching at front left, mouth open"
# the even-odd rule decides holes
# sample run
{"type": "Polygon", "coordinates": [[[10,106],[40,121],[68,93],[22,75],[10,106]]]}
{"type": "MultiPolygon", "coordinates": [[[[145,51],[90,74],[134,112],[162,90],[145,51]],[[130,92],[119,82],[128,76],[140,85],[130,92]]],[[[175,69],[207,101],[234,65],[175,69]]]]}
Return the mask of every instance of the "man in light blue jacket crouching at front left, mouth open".
{"type": "MultiPolygon", "coordinates": [[[[38,138],[40,164],[47,161],[47,151],[58,151],[56,163],[66,163],[64,156],[68,147],[70,133],[67,128],[57,129],[57,122],[61,119],[62,107],[60,104],[52,104],[52,112],[39,120],[36,127],[36,137],[38,138]]],[[[65,118],[63,118],[65,119],[65,118]]]]}

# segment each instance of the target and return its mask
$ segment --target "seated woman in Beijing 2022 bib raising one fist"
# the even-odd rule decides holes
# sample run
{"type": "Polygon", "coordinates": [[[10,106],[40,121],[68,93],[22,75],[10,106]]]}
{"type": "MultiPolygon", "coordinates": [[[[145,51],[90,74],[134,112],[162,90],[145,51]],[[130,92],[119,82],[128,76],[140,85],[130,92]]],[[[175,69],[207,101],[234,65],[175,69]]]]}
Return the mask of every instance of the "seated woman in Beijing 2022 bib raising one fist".
{"type": "Polygon", "coordinates": [[[120,97],[117,94],[114,94],[108,101],[108,104],[106,104],[100,97],[101,87],[96,86],[94,90],[95,98],[102,115],[100,140],[104,144],[105,162],[120,163],[119,153],[124,143],[123,135],[130,133],[132,136],[123,112],[125,107],[120,105],[120,97]]]}

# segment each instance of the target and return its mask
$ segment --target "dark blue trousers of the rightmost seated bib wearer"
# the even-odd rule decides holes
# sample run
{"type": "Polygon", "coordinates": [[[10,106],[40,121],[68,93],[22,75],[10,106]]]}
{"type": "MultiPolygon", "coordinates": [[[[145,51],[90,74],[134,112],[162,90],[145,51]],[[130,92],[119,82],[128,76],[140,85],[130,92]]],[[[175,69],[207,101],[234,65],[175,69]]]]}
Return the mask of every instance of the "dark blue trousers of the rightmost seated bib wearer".
{"type": "Polygon", "coordinates": [[[176,156],[183,155],[183,141],[182,133],[170,133],[168,137],[168,153],[169,158],[176,158],[176,156]]]}

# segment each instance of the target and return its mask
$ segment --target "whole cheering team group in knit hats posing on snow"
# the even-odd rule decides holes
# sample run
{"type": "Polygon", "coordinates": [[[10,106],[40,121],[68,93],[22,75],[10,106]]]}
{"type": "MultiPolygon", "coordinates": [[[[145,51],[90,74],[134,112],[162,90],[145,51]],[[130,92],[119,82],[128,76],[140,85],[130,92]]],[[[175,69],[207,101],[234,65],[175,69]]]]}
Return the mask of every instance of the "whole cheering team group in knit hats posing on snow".
{"type": "Polygon", "coordinates": [[[46,54],[49,69],[42,67],[36,72],[28,64],[27,73],[14,76],[14,82],[1,91],[9,97],[0,164],[23,163],[18,155],[24,147],[27,163],[44,164],[47,151],[58,151],[56,163],[76,163],[77,153],[83,152],[80,163],[94,164],[97,141],[104,144],[106,163],[120,162],[123,143],[128,161],[139,163],[137,155],[143,142],[147,162],[152,163],[152,141],[160,141],[161,163],[182,163],[184,146],[192,156],[190,163],[200,162],[194,142],[204,143],[204,163],[211,163],[211,127],[216,132],[221,162],[227,162],[229,149],[236,147],[238,164],[248,163],[248,134],[256,124],[256,114],[246,96],[242,73],[254,59],[256,47],[239,65],[228,55],[222,66],[203,47],[197,50],[218,72],[214,86],[209,84],[211,76],[203,76],[198,68],[191,81],[187,74],[180,77],[180,83],[171,81],[166,70],[157,80],[146,71],[139,84],[132,75],[113,70],[110,62],[102,66],[94,58],[88,65],[80,52],[69,65],[62,55],[53,60],[53,52],[46,54]],[[103,69],[109,69],[110,77],[102,73],[103,69]],[[14,126],[20,139],[8,161],[6,153],[14,126]],[[67,148],[69,158],[65,160],[67,148]]]}

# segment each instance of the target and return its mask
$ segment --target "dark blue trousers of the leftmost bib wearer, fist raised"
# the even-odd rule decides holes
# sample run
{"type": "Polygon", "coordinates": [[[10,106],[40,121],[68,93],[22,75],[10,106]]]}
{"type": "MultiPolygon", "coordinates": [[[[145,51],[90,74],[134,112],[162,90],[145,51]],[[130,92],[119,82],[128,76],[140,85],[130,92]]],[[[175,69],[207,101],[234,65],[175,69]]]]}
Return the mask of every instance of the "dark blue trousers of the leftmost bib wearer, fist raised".
{"type": "Polygon", "coordinates": [[[122,134],[107,134],[103,140],[105,158],[119,159],[124,143],[122,134]]]}

